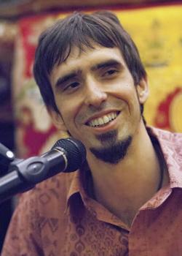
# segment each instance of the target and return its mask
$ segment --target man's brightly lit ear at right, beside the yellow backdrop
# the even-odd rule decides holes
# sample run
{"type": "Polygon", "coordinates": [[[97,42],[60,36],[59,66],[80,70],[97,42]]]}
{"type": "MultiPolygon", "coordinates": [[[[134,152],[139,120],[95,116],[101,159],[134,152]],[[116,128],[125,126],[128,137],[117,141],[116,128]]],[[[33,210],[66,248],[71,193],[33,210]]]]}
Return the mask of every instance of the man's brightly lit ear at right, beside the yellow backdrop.
{"type": "Polygon", "coordinates": [[[141,104],[146,102],[149,97],[149,84],[147,78],[141,78],[140,82],[136,86],[138,99],[141,104]]]}

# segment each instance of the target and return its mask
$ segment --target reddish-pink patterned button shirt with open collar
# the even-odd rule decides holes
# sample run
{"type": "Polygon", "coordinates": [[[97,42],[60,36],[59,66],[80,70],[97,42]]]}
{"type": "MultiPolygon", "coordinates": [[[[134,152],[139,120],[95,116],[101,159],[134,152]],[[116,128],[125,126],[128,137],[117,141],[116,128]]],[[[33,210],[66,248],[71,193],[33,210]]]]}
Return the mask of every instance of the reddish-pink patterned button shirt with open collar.
{"type": "Polygon", "coordinates": [[[182,255],[182,135],[150,133],[170,184],[140,208],[130,228],[89,196],[89,176],[60,173],[20,198],[1,256],[182,255]]]}

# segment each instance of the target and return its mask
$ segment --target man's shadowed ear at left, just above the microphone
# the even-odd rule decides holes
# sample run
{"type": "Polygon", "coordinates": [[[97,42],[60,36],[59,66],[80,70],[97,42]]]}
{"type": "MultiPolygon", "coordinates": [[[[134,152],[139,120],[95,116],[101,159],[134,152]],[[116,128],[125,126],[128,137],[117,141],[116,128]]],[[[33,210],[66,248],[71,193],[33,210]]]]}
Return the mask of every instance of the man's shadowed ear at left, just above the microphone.
{"type": "Polygon", "coordinates": [[[55,125],[55,127],[59,131],[67,132],[66,125],[65,125],[60,113],[56,112],[52,108],[47,108],[47,112],[49,113],[49,115],[52,119],[52,123],[55,125]]]}

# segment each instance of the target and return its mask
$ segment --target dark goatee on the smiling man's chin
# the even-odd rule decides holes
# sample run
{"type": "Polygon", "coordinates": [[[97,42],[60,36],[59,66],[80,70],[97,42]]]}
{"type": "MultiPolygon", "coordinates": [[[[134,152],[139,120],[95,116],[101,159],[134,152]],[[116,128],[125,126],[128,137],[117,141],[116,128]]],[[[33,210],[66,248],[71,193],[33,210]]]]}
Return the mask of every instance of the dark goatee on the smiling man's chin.
{"type": "Polygon", "coordinates": [[[97,135],[97,138],[104,147],[90,148],[90,151],[95,155],[96,158],[112,165],[116,165],[118,162],[124,159],[127,154],[127,149],[132,142],[131,136],[128,136],[124,140],[117,141],[116,131],[106,132],[103,135],[97,135]]]}

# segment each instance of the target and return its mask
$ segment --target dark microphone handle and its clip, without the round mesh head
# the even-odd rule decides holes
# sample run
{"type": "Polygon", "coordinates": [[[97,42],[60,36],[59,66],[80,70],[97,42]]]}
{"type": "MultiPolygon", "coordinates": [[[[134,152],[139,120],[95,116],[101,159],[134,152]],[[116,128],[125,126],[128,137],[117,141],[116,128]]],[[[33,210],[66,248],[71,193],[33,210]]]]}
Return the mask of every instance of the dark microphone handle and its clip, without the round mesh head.
{"type": "MultiPolygon", "coordinates": [[[[61,167],[55,151],[54,154],[52,152],[48,157],[47,153],[45,153],[41,157],[30,157],[28,159],[11,158],[10,160],[5,159],[5,161],[6,154],[1,153],[0,145],[0,162],[11,162],[8,173],[0,178],[0,203],[17,193],[32,189],[35,184],[58,173],[61,167]],[[50,168],[52,168],[51,172],[49,172],[50,168]]],[[[60,155],[59,151],[58,154],[60,155]]]]}

